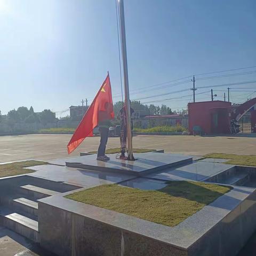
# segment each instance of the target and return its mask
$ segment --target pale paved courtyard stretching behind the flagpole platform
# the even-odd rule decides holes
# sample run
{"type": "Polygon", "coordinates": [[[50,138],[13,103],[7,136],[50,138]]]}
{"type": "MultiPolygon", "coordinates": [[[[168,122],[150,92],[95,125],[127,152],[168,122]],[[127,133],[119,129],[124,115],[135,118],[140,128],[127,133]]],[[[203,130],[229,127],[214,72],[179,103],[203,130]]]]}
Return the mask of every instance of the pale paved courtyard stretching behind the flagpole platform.
{"type": "MultiPolygon", "coordinates": [[[[50,160],[68,157],[68,134],[29,134],[0,137],[0,163],[25,159],[50,160]]],[[[97,150],[99,137],[86,138],[70,156],[97,150]]],[[[107,148],[119,147],[119,138],[109,138],[107,148]]],[[[256,155],[256,138],[199,137],[187,135],[138,135],[134,148],[164,149],[165,153],[202,156],[208,153],[256,155]]]]}

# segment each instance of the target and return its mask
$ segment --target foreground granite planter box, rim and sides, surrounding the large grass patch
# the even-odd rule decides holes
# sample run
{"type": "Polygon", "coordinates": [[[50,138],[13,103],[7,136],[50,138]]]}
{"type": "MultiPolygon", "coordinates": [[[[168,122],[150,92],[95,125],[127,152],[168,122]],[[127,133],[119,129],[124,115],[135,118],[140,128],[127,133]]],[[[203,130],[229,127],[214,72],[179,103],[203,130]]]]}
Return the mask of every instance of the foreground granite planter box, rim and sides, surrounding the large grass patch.
{"type": "Polygon", "coordinates": [[[38,203],[41,245],[58,255],[236,255],[256,228],[255,199],[255,188],[234,187],[179,225],[167,227],[52,196],[38,203]]]}

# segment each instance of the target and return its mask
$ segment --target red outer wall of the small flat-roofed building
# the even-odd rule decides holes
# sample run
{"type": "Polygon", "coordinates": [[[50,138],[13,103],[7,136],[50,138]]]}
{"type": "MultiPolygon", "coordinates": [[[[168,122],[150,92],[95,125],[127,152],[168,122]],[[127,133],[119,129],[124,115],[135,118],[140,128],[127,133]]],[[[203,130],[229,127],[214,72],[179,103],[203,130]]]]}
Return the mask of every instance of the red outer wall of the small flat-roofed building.
{"type": "Polygon", "coordinates": [[[219,117],[219,129],[221,132],[229,132],[229,117],[231,103],[226,101],[205,101],[188,103],[188,129],[193,134],[193,127],[198,125],[206,134],[213,133],[212,114],[221,113],[219,117]],[[223,115],[226,113],[226,115],[223,115]]]}

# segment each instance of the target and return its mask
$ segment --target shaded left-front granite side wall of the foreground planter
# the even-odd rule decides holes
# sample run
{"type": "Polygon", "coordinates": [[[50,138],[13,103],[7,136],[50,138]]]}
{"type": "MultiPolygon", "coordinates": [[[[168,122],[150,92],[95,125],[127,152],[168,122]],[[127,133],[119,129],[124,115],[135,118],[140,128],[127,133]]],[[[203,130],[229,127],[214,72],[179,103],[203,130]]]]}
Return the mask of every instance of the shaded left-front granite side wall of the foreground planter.
{"type": "Polygon", "coordinates": [[[59,256],[187,256],[184,249],[40,201],[40,245],[59,256]]]}

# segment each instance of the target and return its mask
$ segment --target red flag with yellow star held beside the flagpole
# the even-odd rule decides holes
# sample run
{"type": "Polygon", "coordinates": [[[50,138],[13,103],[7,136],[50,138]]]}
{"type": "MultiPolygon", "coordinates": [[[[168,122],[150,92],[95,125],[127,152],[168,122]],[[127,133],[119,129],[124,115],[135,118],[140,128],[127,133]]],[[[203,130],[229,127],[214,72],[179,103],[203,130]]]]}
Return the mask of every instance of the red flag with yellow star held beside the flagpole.
{"type": "Polygon", "coordinates": [[[102,121],[100,120],[99,111],[107,111],[107,119],[114,119],[115,117],[109,74],[69,141],[67,146],[68,154],[75,150],[86,137],[93,136],[93,129],[102,121]],[[107,105],[106,103],[109,104],[107,105]],[[107,107],[108,109],[106,109],[107,107]]]}

